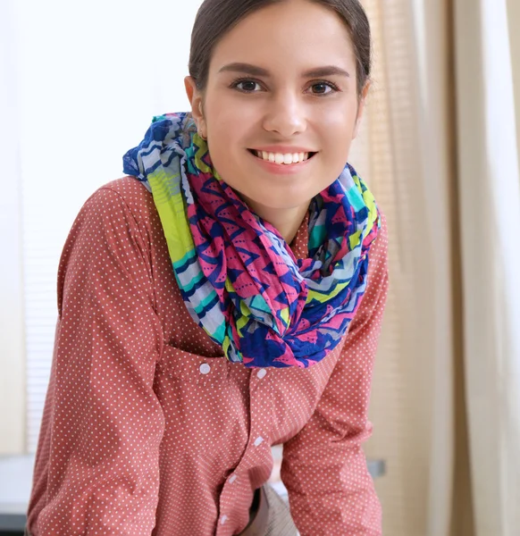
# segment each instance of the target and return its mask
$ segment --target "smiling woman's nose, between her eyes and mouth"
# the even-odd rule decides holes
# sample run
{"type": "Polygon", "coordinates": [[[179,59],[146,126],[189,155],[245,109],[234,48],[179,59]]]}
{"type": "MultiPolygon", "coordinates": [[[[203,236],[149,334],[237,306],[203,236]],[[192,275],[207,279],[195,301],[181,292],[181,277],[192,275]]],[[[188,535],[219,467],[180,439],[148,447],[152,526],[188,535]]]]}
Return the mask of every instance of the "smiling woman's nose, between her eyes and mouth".
{"type": "Polygon", "coordinates": [[[264,129],[291,138],[306,130],[305,105],[289,89],[273,95],[266,104],[264,129]]]}

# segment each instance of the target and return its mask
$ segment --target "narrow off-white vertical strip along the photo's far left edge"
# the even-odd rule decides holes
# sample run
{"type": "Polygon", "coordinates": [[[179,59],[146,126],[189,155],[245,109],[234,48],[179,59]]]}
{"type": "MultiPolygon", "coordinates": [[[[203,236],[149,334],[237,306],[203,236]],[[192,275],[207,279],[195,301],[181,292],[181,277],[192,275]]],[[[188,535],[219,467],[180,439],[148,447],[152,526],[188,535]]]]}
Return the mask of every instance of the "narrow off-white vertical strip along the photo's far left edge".
{"type": "Polygon", "coordinates": [[[0,456],[20,454],[25,441],[18,77],[12,21],[13,2],[0,2],[0,456]]]}

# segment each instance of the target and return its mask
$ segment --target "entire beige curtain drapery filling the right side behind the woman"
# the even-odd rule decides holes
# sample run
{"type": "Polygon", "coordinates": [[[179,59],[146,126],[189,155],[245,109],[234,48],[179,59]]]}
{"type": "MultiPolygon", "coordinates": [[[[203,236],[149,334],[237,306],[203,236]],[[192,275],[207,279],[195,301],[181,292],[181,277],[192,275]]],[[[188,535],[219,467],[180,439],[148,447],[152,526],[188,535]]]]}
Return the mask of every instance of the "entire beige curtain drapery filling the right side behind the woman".
{"type": "Polygon", "coordinates": [[[352,160],[390,228],[365,447],[387,462],[385,536],[520,534],[520,3],[508,1],[364,1],[374,87],[352,160]]]}

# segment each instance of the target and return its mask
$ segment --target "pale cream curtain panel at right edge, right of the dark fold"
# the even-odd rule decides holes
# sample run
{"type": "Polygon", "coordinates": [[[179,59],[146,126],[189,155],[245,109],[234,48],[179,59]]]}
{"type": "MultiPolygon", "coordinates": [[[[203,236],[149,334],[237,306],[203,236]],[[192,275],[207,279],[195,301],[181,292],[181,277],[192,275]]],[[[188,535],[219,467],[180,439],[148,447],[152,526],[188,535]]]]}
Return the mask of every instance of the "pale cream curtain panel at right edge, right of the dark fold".
{"type": "MultiPolygon", "coordinates": [[[[511,3],[512,5],[512,3],[511,3]]],[[[459,0],[458,180],[465,370],[480,534],[520,531],[520,178],[507,0],[459,0]],[[477,4],[475,9],[474,4],[477,4]],[[488,255],[482,255],[488,252],[488,255]]]]}

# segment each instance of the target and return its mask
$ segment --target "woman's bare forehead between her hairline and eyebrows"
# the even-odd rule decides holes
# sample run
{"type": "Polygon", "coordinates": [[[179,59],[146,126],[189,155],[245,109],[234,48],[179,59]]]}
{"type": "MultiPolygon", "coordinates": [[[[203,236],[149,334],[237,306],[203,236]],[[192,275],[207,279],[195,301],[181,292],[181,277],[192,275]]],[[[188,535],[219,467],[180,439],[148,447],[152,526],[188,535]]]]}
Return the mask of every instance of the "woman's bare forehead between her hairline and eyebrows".
{"type": "Polygon", "coordinates": [[[229,62],[288,70],[291,65],[323,63],[351,68],[355,61],[348,27],[339,13],[308,0],[289,0],[247,15],[225,34],[214,48],[210,70],[229,62]]]}

